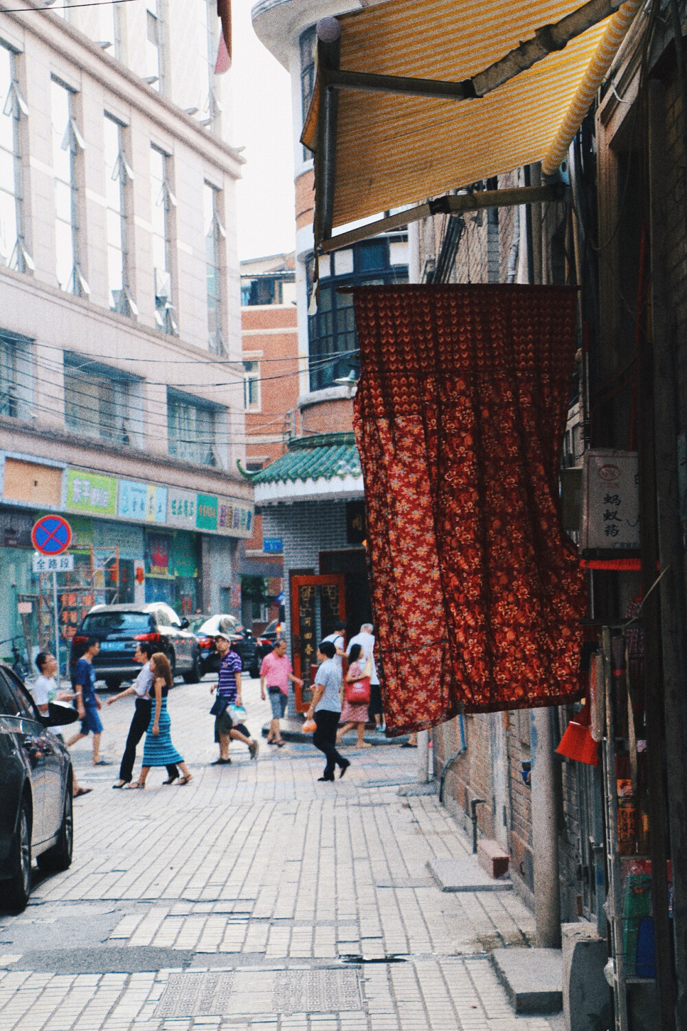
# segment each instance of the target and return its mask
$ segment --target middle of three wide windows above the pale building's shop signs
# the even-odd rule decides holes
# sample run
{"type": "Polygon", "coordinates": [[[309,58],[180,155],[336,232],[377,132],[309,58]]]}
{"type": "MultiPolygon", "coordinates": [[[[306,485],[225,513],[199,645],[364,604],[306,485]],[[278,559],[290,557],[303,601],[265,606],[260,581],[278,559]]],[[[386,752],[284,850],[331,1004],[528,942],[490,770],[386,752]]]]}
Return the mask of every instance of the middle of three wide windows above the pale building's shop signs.
{"type": "Polygon", "coordinates": [[[65,425],[113,444],[135,444],[132,383],[115,369],[65,354],[65,425]]]}

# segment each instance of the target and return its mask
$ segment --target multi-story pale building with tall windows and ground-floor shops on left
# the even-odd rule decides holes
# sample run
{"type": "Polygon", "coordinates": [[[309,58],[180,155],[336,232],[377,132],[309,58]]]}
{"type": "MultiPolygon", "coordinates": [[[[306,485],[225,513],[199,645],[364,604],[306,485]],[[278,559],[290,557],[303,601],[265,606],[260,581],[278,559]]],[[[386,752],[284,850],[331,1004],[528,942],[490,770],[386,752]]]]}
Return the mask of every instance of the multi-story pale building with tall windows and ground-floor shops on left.
{"type": "MultiPolygon", "coordinates": [[[[37,644],[30,530],[92,600],[227,610],[250,537],[228,77],[214,0],[0,14],[0,638],[37,644]],[[32,612],[27,605],[33,599],[32,612]]],[[[7,655],[9,645],[0,647],[7,655]]]]}

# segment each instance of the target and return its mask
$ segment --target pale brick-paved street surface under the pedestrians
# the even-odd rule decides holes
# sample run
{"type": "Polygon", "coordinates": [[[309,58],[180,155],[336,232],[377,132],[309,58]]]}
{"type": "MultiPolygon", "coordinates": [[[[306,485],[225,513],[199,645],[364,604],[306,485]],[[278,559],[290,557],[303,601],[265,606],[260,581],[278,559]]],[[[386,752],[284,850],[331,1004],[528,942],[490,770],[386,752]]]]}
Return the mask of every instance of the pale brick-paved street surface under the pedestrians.
{"type": "MultiPolygon", "coordinates": [[[[334,785],[308,744],[263,744],[254,763],[234,743],[231,766],[209,766],[209,686],[169,699],[187,787],[153,770],[145,792],[111,791],[117,766],[75,746],[94,791],[72,867],[0,916],[0,1031],[560,1031],[514,1017],[487,958],[534,937],[518,896],[428,877],[427,859],[469,844],[436,797],[399,796],[416,753],[345,750],[334,785]]],[[[256,681],[244,700],[257,735],[256,681]]],[[[130,717],[129,700],[104,708],[105,758],[130,717]]]]}

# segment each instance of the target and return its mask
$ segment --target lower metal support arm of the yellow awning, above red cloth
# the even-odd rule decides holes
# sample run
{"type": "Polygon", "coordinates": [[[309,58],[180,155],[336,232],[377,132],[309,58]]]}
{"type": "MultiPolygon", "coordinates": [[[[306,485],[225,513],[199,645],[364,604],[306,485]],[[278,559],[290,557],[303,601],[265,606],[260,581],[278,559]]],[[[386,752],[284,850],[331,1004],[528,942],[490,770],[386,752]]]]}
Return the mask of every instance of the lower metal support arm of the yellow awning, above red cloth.
{"type": "Polygon", "coordinates": [[[407,226],[409,222],[427,219],[431,214],[460,214],[462,211],[478,211],[489,207],[518,207],[520,204],[546,204],[551,201],[568,200],[569,189],[564,182],[548,182],[543,187],[518,187],[514,190],[480,190],[471,194],[452,194],[425,201],[405,211],[375,219],[366,226],[357,226],[347,233],[338,233],[325,238],[319,244],[322,254],[348,247],[359,240],[368,240],[378,233],[407,226]]]}

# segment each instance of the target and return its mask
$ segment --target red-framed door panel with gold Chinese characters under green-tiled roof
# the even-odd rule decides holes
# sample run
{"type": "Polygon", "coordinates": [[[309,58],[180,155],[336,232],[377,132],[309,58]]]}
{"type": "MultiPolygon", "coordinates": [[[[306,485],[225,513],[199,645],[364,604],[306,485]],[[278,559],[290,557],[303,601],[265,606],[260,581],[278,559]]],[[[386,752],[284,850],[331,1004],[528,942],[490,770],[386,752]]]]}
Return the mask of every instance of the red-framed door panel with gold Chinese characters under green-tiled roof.
{"type": "Polygon", "coordinates": [[[303,688],[294,685],[296,711],[310,705],[312,671],[317,666],[317,645],[346,619],[346,583],[343,573],[291,576],[291,655],[294,671],[303,688]]]}

